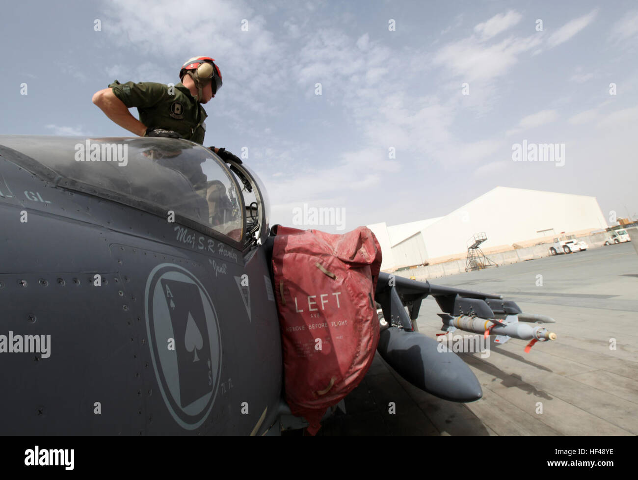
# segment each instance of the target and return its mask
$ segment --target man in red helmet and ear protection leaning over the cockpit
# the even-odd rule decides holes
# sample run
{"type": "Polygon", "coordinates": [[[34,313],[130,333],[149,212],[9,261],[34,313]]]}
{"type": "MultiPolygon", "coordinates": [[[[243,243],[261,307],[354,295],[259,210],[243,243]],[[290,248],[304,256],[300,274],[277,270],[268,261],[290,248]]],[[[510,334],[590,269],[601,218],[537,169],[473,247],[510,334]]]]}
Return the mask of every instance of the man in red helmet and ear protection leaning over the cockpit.
{"type": "MultiPolygon", "coordinates": [[[[221,88],[221,71],[211,57],[193,57],[182,65],[174,87],[155,82],[117,80],[93,95],[93,103],[112,121],[140,137],[170,137],[204,143],[205,119],[202,103],[208,103],[221,88]],[[140,119],[128,109],[137,107],[140,119]]],[[[241,160],[223,148],[210,147],[223,160],[241,160]]]]}

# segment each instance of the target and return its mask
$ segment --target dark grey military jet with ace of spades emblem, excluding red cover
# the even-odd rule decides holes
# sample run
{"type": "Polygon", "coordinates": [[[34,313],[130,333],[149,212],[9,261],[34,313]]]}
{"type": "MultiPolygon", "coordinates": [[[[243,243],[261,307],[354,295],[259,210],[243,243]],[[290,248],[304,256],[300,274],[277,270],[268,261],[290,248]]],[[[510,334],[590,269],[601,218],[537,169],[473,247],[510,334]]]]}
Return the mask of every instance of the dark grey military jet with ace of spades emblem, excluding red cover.
{"type": "MultiPolygon", "coordinates": [[[[280,433],[269,201],[249,167],[188,140],[3,135],[0,223],[1,434],[280,433]]],[[[540,317],[380,275],[380,353],[477,400],[460,357],[414,331],[428,295],[494,328],[540,317]]]]}

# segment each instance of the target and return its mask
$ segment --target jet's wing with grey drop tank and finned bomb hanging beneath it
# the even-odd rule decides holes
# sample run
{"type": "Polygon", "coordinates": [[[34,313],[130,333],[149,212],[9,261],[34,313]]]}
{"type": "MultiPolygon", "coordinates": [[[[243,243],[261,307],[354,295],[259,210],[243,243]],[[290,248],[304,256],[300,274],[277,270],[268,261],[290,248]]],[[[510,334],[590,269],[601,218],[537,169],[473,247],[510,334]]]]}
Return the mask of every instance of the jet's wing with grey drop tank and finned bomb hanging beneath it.
{"type": "Polygon", "coordinates": [[[387,327],[382,327],[378,352],[404,379],[445,400],[479,400],[482,389],[461,357],[445,344],[415,331],[421,302],[427,296],[433,296],[445,312],[441,315],[445,331],[458,328],[484,333],[486,338],[494,334],[498,343],[505,343],[510,336],[531,340],[527,352],[538,340],[556,338],[544,327],[522,324],[518,315],[524,322],[553,322],[553,319],[523,313],[516,303],[503,300],[500,295],[380,273],[375,299],[381,304],[387,327]]]}

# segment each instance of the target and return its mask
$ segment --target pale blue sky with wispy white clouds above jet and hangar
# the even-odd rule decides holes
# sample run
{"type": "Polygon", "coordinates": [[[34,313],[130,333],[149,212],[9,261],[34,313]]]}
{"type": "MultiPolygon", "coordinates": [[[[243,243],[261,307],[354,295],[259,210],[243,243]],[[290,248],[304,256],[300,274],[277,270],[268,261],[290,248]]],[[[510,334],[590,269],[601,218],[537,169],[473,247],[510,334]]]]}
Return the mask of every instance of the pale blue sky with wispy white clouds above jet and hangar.
{"type": "Polygon", "coordinates": [[[277,223],[306,203],[394,225],[498,185],[638,214],[634,1],[26,1],[0,27],[2,134],[130,136],[94,92],[214,57],[204,143],[248,147],[277,223]],[[565,165],[512,161],[523,140],[565,144],[565,165]]]}

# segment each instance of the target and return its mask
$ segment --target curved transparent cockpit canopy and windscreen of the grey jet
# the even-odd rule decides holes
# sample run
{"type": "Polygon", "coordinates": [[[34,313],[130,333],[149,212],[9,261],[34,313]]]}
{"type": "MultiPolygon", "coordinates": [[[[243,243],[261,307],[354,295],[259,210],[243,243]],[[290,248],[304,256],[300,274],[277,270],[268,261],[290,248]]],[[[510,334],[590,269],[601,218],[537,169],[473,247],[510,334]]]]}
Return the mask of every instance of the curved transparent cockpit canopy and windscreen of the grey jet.
{"type": "Polygon", "coordinates": [[[258,177],[188,140],[0,136],[20,166],[57,186],[170,218],[243,249],[267,236],[258,177]]]}

